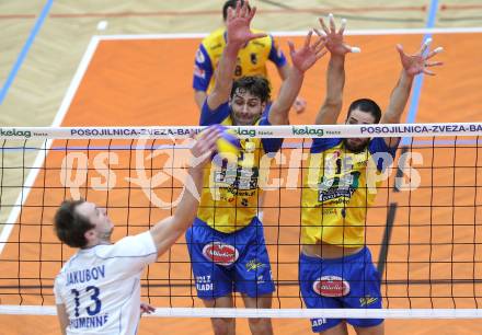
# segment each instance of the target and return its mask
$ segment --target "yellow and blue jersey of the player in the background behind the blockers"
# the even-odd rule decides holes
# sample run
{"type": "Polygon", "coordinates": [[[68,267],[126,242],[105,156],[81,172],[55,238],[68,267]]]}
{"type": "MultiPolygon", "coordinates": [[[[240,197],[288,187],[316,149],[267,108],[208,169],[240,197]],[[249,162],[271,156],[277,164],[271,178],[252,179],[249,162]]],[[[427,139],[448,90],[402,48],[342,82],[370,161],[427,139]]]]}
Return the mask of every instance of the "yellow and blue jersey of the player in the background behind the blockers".
{"type": "MultiPolygon", "coordinates": [[[[252,30],[253,33],[263,33],[252,30]]],[[[226,28],[221,27],[203,39],[196,53],[193,86],[196,90],[210,93],[216,79],[215,70],[226,46],[226,28]]],[[[286,58],[274,43],[271,35],[250,41],[238,54],[234,79],[246,76],[263,76],[267,78],[266,61],[273,61],[276,67],[283,67],[286,58]]]]}

